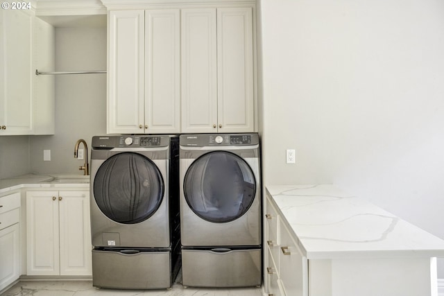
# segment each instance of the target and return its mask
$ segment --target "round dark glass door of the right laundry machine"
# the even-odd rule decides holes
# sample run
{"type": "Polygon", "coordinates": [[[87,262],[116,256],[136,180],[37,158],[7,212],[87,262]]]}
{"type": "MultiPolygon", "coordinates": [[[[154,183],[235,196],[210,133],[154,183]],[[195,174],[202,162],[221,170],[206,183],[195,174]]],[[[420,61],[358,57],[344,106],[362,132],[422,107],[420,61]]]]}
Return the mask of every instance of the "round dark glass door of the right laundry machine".
{"type": "Polygon", "coordinates": [[[189,166],[183,186],[190,209],[213,223],[227,223],[244,215],[256,193],[250,166],[226,151],[198,157],[189,166]]]}

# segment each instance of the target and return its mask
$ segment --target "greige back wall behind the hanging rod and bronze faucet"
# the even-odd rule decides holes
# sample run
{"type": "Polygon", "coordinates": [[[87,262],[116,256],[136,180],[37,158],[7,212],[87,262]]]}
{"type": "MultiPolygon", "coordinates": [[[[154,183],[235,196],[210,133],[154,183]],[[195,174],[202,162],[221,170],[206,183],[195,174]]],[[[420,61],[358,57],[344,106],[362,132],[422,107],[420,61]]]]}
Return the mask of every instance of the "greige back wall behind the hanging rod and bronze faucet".
{"type": "MultiPolygon", "coordinates": [[[[56,28],[56,71],[105,69],[105,27],[56,28]]],[[[30,137],[31,171],[82,174],[74,144],[83,138],[90,152],[91,138],[99,134],[106,134],[106,75],[56,76],[56,133],[30,137]],[[43,161],[46,149],[51,162],[43,161]]]]}

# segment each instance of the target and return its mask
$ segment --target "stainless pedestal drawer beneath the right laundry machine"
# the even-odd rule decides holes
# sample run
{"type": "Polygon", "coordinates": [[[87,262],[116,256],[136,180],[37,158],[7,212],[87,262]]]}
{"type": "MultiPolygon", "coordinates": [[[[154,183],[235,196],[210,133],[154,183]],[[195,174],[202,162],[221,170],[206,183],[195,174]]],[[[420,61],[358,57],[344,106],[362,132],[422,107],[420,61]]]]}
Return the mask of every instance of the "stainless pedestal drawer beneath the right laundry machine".
{"type": "Polygon", "coordinates": [[[194,287],[248,287],[262,284],[261,250],[182,249],[182,284],[194,287]]]}

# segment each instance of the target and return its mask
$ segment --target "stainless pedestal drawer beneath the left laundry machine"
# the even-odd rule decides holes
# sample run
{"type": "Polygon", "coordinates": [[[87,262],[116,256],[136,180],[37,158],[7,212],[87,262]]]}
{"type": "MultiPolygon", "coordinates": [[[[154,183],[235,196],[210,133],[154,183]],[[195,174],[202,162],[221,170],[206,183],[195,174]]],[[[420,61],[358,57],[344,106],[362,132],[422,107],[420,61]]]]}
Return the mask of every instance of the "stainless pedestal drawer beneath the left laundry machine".
{"type": "Polygon", "coordinates": [[[92,285],[100,288],[171,287],[171,253],[92,250],[92,285]]]}

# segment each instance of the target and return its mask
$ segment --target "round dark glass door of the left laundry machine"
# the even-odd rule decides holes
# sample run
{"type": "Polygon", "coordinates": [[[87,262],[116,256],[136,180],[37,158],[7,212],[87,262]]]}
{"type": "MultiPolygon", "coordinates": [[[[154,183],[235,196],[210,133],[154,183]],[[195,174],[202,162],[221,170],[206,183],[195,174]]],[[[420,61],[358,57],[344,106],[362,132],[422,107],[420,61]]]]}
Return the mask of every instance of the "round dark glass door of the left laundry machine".
{"type": "Polygon", "coordinates": [[[94,199],[103,214],[123,224],[140,223],[155,213],[164,180],[150,159],[137,153],[108,158],[94,177],[94,199]]]}

